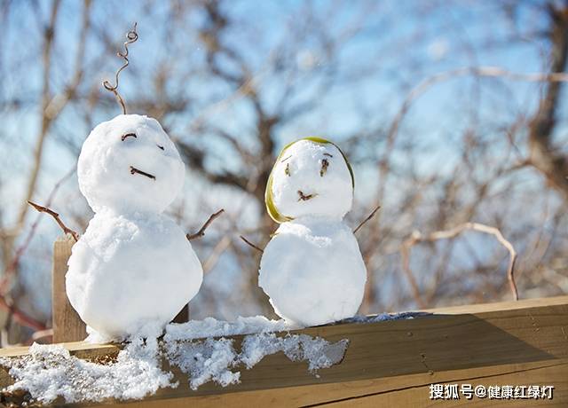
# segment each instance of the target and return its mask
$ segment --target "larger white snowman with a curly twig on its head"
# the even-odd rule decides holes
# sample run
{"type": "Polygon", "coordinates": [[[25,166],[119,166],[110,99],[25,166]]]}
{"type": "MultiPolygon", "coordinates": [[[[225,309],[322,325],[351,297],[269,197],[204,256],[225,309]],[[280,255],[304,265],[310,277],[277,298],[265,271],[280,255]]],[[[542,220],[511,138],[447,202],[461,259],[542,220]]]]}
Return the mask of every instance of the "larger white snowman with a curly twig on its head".
{"type": "Polygon", "coordinates": [[[91,131],[77,173],[95,216],[69,258],[71,305],[95,339],[160,333],[203,277],[185,232],[162,215],[184,183],[176,146],[155,119],[120,114],[91,131]]]}

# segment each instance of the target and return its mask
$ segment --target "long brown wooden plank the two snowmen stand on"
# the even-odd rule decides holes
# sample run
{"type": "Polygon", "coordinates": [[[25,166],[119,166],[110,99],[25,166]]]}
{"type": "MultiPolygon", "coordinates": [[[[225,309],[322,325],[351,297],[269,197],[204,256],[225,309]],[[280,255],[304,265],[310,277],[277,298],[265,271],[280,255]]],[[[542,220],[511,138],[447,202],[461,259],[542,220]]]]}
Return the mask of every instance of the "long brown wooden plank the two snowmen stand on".
{"type": "MultiPolygon", "coordinates": [[[[519,301],[513,307],[505,302],[501,309],[490,308],[492,311],[476,309],[484,308],[474,306],[474,312],[467,314],[435,313],[296,331],[293,333],[321,336],[327,341],[349,339],[343,362],[320,370],[316,377],[308,373],[305,363],[292,363],[279,353],[265,357],[251,370],[241,367],[241,384],[222,388],[208,383],[196,391],[187,386],[185,374],[173,370],[179,387],[160,389],[154,396],[130,405],[454,406],[455,401],[430,401],[430,383],[444,382],[552,385],[554,399],[539,400],[538,404],[568,406],[568,296],[519,301]]],[[[237,347],[241,338],[233,337],[237,347]]],[[[118,352],[113,345],[93,348],[73,343],[67,347],[77,357],[118,352]]],[[[2,350],[0,355],[25,351],[2,350]]],[[[4,372],[0,386],[7,381],[4,372]]],[[[468,404],[531,406],[531,401],[474,399],[468,404]]]]}

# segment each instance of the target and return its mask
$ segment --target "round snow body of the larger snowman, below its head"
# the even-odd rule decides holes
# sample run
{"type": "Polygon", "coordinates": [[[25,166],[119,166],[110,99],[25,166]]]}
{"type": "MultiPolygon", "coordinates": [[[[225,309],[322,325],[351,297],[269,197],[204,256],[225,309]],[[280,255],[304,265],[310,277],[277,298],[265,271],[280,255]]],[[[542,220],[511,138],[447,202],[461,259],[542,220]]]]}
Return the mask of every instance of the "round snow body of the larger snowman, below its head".
{"type": "Polygon", "coordinates": [[[161,333],[201,286],[184,231],[158,214],[97,213],[72,251],[67,297],[103,339],[161,333]]]}

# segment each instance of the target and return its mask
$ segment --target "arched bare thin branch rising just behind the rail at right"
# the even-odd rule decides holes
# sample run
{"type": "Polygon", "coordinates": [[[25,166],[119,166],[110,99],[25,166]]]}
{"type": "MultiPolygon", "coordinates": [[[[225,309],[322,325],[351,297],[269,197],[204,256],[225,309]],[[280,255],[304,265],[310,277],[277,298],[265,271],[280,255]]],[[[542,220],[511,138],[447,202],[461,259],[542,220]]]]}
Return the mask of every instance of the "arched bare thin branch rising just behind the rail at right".
{"type": "Polygon", "coordinates": [[[507,279],[509,281],[511,294],[513,294],[513,299],[515,299],[516,301],[518,300],[517,284],[515,283],[515,264],[517,263],[517,251],[515,251],[513,245],[509,242],[509,240],[503,237],[503,234],[501,233],[501,231],[499,231],[498,228],[479,223],[465,223],[460,224],[450,230],[434,231],[426,236],[422,235],[422,233],[420,233],[419,231],[414,231],[412,236],[406,239],[406,241],[400,248],[403,271],[405,272],[406,278],[408,279],[410,286],[412,287],[414,299],[420,307],[425,307],[426,305],[422,300],[418,285],[416,284],[416,280],[414,279],[414,274],[410,269],[410,248],[421,242],[432,242],[438,239],[452,239],[461,234],[461,232],[469,230],[493,235],[493,237],[495,237],[501,243],[501,245],[509,251],[509,267],[507,269],[507,279]]]}

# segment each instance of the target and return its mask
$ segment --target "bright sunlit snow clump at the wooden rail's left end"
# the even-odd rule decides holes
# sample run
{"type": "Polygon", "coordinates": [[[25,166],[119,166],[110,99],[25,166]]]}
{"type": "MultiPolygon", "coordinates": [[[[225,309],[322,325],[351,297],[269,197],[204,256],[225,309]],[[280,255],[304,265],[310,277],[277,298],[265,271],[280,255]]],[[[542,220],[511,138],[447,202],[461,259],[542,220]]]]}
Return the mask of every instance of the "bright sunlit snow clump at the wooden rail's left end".
{"type": "Polygon", "coordinates": [[[27,390],[43,404],[60,396],[67,403],[101,401],[105,398],[139,399],[158,388],[177,387],[173,375],[158,364],[157,341],[138,339],[118,353],[116,361],[97,364],[71,356],[59,345],[34,344],[21,358],[3,358],[16,381],[7,391],[27,390]]]}

